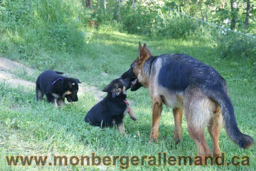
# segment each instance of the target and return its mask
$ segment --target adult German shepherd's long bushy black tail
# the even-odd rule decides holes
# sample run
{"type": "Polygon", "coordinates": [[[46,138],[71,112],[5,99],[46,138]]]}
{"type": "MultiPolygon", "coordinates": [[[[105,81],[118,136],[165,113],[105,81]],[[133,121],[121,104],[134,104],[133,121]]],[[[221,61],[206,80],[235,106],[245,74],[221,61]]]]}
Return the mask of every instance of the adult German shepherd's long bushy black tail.
{"type": "Polygon", "coordinates": [[[243,134],[236,122],[236,118],[234,115],[234,109],[232,102],[227,94],[227,90],[225,86],[222,86],[223,88],[219,90],[208,90],[205,91],[205,94],[212,100],[216,101],[218,105],[221,107],[222,115],[224,119],[224,126],[226,129],[226,133],[229,136],[229,138],[236,144],[239,145],[241,148],[249,148],[253,145],[254,141],[252,137],[243,134]]]}

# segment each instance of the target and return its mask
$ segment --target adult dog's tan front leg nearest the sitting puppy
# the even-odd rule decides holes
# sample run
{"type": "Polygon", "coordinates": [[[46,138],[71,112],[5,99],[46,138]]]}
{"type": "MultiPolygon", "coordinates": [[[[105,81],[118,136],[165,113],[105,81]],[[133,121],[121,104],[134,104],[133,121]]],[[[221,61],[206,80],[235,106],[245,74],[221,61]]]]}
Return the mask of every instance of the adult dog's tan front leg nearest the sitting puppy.
{"type": "Polygon", "coordinates": [[[156,96],[152,98],[152,125],[151,125],[151,133],[150,133],[150,141],[158,142],[158,130],[162,113],[162,99],[160,96],[156,96]]]}

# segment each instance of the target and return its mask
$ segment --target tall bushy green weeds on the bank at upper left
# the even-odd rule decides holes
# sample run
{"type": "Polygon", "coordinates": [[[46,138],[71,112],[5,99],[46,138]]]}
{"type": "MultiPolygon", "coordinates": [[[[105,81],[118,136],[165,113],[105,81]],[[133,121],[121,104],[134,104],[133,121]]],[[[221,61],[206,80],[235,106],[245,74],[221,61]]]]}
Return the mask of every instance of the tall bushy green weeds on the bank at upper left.
{"type": "Polygon", "coordinates": [[[90,12],[79,0],[5,0],[0,8],[1,53],[12,47],[29,58],[39,48],[77,52],[85,46],[90,12]]]}

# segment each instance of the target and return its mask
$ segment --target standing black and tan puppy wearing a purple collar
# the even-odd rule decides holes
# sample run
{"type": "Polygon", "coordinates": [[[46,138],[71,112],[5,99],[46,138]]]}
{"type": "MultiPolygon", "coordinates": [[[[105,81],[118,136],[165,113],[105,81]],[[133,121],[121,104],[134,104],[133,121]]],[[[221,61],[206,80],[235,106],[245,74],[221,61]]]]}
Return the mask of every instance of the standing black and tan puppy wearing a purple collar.
{"type": "Polygon", "coordinates": [[[68,78],[59,74],[63,72],[46,70],[42,72],[36,82],[37,100],[41,100],[45,94],[47,101],[61,107],[65,105],[65,98],[68,102],[78,101],[77,91],[78,79],[68,78]]]}

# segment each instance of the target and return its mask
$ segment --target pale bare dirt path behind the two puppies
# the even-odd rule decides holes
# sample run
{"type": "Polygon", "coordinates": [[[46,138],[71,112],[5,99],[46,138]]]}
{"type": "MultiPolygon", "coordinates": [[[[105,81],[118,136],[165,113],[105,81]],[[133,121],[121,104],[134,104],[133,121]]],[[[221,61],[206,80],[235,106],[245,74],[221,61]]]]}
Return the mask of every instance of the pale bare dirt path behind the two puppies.
{"type": "MultiPolygon", "coordinates": [[[[12,86],[22,85],[25,87],[35,87],[35,83],[33,82],[15,78],[15,75],[12,73],[18,69],[25,70],[29,75],[32,75],[35,72],[35,70],[28,68],[18,62],[0,57],[0,81],[10,83],[12,86]]],[[[79,85],[78,95],[83,95],[88,91],[94,94],[97,101],[100,101],[103,98],[104,92],[97,90],[97,87],[88,86],[85,83],[79,85]]]]}

